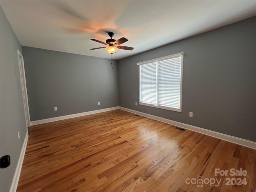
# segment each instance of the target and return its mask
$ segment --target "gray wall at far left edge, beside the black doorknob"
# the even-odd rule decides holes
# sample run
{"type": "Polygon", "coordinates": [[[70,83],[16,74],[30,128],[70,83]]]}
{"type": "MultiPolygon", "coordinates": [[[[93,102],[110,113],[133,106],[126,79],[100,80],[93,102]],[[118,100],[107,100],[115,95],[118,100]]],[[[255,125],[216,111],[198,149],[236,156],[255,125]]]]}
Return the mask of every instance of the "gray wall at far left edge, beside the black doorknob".
{"type": "Polygon", "coordinates": [[[0,8],[0,156],[10,155],[11,164],[1,169],[0,191],[8,192],[20,156],[22,144],[26,136],[20,74],[18,67],[17,49],[21,51],[20,43],[16,38],[6,16],[0,8]],[[18,140],[18,131],[20,140],[18,140]]]}

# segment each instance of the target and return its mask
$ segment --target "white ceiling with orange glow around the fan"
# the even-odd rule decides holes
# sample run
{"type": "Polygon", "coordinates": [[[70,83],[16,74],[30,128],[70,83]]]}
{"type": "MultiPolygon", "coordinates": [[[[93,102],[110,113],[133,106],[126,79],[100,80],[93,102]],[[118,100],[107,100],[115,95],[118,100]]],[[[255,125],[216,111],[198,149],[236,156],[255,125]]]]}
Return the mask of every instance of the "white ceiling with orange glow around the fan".
{"type": "Polygon", "coordinates": [[[256,1],[1,0],[20,44],[111,58],[94,38],[125,37],[113,59],[121,59],[256,15],[256,1]]]}

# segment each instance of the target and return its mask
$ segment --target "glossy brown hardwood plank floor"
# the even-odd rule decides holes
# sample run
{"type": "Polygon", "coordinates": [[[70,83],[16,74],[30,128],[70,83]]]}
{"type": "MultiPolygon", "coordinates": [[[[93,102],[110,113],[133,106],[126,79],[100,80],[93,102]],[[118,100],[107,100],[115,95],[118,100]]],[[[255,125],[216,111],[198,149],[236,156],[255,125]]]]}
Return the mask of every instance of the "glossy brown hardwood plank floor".
{"type": "Polygon", "coordinates": [[[255,192],[255,187],[256,150],[114,110],[31,126],[17,191],[255,192]],[[244,175],[232,176],[232,169],[244,175]],[[222,170],[228,170],[226,176],[222,170]]]}

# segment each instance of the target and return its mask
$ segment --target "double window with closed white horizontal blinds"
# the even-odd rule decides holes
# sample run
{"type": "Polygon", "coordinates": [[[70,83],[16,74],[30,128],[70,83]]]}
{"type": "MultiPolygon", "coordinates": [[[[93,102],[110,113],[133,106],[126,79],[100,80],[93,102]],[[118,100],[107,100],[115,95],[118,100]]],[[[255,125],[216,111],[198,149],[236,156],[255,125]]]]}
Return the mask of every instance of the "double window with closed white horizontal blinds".
{"type": "Polygon", "coordinates": [[[139,104],[181,112],[183,53],[138,65],[139,104]]]}

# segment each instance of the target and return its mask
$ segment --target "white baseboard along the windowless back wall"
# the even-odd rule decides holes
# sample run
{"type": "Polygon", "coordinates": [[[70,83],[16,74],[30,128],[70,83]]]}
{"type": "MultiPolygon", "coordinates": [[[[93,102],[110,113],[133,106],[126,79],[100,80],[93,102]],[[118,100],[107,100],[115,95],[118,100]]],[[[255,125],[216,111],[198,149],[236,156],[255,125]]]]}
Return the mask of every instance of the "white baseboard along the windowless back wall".
{"type": "Polygon", "coordinates": [[[36,121],[30,122],[30,125],[32,126],[32,125],[39,125],[39,124],[43,124],[43,123],[50,123],[50,122],[54,122],[54,121],[70,119],[70,118],[80,117],[80,116],[85,116],[85,115],[91,115],[91,114],[96,114],[96,113],[101,113],[101,112],[106,112],[106,111],[112,111],[112,110],[116,110],[116,109],[119,109],[119,107],[112,107],[112,108],[88,111],[88,112],[83,112],[83,113],[65,115],[65,116],[60,116],[60,117],[53,117],[53,118],[48,118],[48,119],[36,120],[36,121]]]}

